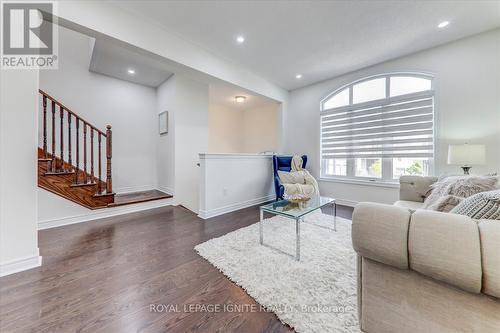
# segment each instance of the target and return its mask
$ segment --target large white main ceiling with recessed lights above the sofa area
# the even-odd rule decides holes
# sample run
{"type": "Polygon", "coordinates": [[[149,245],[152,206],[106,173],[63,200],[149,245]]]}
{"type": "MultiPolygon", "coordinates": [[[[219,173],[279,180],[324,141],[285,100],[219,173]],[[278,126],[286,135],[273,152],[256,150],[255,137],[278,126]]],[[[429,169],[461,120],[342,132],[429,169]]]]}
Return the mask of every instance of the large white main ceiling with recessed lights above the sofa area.
{"type": "Polygon", "coordinates": [[[500,1],[113,3],[288,90],[500,26],[500,1]]]}

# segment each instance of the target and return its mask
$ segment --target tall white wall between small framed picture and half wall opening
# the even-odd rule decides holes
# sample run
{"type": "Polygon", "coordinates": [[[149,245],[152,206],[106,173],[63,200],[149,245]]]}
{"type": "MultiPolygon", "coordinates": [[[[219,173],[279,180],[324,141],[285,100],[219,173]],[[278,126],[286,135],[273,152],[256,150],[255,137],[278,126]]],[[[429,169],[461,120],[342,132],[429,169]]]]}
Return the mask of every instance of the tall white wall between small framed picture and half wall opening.
{"type": "Polygon", "coordinates": [[[168,134],[156,140],[158,187],[198,212],[198,154],[208,149],[208,85],[173,75],[158,87],[156,108],[169,112],[168,134]]]}

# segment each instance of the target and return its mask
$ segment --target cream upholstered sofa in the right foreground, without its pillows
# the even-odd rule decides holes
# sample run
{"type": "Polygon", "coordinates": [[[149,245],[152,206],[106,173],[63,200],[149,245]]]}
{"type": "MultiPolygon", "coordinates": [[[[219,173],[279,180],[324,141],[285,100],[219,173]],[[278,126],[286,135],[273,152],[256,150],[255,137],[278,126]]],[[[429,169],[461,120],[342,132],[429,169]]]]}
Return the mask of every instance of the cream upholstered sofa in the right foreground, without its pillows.
{"type": "Polygon", "coordinates": [[[500,332],[500,221],[419,209],[435,181],[402,177],[400,201],[354,210],[364,332],[500,332]]]}

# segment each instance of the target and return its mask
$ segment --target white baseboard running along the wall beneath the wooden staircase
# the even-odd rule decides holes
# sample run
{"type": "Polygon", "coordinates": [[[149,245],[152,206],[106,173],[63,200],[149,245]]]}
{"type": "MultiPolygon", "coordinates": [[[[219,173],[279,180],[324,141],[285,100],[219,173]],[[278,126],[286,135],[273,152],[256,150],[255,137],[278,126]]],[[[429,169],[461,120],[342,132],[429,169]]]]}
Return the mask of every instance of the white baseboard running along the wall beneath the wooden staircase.
{"type": "Polygon", "coordinates": [[[107,217],[130,214],[130,213],[135,213],[135,212],[140,212],[140,211],[144,211],[144,210],[160,208],[160,207],[165,207],[165,206],[171,206],[171,205],[174,205],[173,198],[161,199],[161,200],[155,200],[155,201],[149,201],[149,202],[141,202],[141,203],[137,203],[137,204],[133,204],[133,205],[118,206],[118,207],[113,207],[113,208],[96,209],[96,210],[92,210],[86,214],[80,214],[80,215],[74,215],[74,216],[67,216],[67,217],[63,217],[63,218],[38,221],[38,230],[44,230],[44,229],[61,227],[63,225],[99,220],[99,219],[103,219],[103,218],[107,218],[107,217]]]}

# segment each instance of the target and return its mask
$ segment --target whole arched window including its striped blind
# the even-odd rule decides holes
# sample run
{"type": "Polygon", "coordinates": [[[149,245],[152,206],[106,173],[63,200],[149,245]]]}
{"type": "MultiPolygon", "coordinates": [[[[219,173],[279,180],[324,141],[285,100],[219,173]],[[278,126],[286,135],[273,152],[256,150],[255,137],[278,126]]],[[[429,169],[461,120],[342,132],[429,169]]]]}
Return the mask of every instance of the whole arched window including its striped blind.
{"type": "Polygon", "coordinates": [[[434,158],[431,76],[384,74],[321,101],[321,176],[394,182],[430,174],[434,158]]]}

